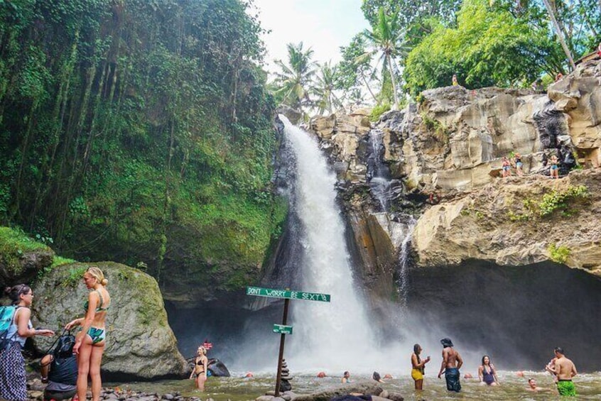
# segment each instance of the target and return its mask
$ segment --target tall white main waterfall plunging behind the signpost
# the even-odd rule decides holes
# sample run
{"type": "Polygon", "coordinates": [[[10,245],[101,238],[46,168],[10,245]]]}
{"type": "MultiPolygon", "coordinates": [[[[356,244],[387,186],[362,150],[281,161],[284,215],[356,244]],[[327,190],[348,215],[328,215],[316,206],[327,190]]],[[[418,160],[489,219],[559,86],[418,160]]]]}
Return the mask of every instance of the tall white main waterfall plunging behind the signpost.
{"type": "MultiPolygon", "coordinates": [[[[345,226],[336,204],[336,177],[318,143],[280,116],[296,155],[296,212],[303,226],[303,290],[330,294],[330,303],[293,301],[293,336],[286,356],[296,369],[345,370],[373,355],[374,334],[353,284],[345,226]]],[[[369,369],[369,368],[367,368],[369,369]]]]}

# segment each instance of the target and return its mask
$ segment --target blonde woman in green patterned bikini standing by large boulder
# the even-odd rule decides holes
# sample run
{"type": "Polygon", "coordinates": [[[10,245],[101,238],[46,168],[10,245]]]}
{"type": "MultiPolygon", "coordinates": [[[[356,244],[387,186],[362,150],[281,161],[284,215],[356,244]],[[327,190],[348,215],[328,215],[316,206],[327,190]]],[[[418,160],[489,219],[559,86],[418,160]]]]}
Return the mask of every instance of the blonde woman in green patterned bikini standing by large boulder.
{"type": "Polygon", "coordinates": [[[75,337],[73,353],[77,355],[77,397],[86,399],[87,377],[92,379],[92,401],[99,401],[102,381],[100,380],[100,363],[106,339],[104,321],[111,304],[111,296],[106,289],[109,282],[104,278],[102,270],[92,266],[83,276],[85,286],[90,290],[84,304],[85,317],[72,320],[65,326],[70,330],[81,326],[82,330],[75,337]]]}

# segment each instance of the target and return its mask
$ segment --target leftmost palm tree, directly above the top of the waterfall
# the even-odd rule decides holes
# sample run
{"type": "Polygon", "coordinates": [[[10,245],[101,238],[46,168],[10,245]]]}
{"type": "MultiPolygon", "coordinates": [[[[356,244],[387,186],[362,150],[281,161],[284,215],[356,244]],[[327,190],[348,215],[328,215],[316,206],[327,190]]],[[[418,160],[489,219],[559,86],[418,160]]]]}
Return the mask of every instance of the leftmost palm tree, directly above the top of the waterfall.
{"type": "Polygon", "coordinates": [[[302,111],[303,105],[310,104],[310,82],[316,67],[315,62],[311,61],[313,50],[303,50],[303,42],[298,45],[288,43],[286,46],[288,65],[282,60],[276,60],[276,65],[281,68],[281,72],[276,72],[274,82],[276,96],[281,97],[284,104],[302,111]]]}

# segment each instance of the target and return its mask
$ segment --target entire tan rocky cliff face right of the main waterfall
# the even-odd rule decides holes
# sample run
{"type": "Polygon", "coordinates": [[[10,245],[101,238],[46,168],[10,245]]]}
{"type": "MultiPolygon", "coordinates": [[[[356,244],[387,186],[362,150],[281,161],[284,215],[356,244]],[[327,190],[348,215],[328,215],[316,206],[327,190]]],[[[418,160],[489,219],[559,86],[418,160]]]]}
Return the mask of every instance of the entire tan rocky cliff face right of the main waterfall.
{"type": "Polygon", "coordinates": [[[370,160],[374,158],[372,136],[379,131],[381,163],[391,180],[402,181],[413,205],[417,202],[423,212],[430,206],[420,206],[420,201],[428,194],[441,197],[440,204],[418,212],[413,248],[419,265],[460,263],[467,258],[523,265],[550,259],[553,244],[568,248],[567,265],[598,274],[601,234],[592,221],[598,216],[601,189],[595,184],[601,164],[601,62],[579,65],[573,74],[551,85],[548,94],[438,88],[423,92],[420,104],[384,114],[371,127],[367,111],[357,111],[350,116],[317,117],[310,130],[337,172],[350,231],[357,248],[365,250],[361,258],[367,261],[367,270],[379,265],[387,271],[386,263],[379,262],[381,255],[386,254],[386,260],[398,256],[399,241],[391,239],[394,229],[388,221],[398,221],[399,212],[408,207],[408,202],[394,199],[383,211],[376,202],[370,160]],[[568,136],[585,170],[555,181],[538,174],[547,170],[545,155],[556,151],[560,138],[568,136]],[[502,156],[512,152],[521,153],[526,177],[502,180],[502,156]],[[524,201],[536,206],[533,202],[544,194],[578,185],[585,185],[590,193],[580,214],[570,219],[558,214],[545,219],[516,217],[521,216],[524,201]],[[356,194],[362,194],[361,200],[356,194]],[[387,218],[374,220],[381,212],[387,218]],[[380,231],[389,237],[377,238],[380,234],[374,233],[380,231]]]}

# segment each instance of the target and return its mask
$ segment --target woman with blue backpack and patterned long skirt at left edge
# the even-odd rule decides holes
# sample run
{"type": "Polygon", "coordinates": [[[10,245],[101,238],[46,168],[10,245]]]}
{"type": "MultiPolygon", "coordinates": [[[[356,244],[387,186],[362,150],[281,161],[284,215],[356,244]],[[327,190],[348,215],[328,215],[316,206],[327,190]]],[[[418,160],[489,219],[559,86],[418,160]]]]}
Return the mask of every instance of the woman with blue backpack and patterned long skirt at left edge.
{"type": "Polygon", "coordinates": [[[54,331],[33,329],[31,302],[33,291],[25,284],[7,287],[6,295],[15,307],[11,324],[6,331],[4,349],[0,351],[0,398],[11,401],[27,400],[25,359],[21,348],[28,337],[53,336],[54,331]]]}

